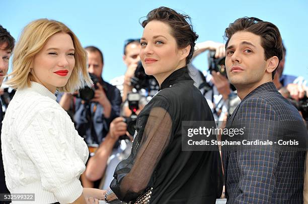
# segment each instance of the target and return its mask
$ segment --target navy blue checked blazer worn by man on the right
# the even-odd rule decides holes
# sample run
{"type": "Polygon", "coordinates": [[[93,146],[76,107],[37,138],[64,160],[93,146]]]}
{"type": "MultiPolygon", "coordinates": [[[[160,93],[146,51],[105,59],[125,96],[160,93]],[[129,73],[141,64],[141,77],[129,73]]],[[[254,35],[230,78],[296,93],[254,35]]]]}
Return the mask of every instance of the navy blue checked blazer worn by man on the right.
{"type": "MultiPolygon", "coordinates": [[[[241,101],[226,128],[238,123],[250,124],[245,130],[246,138],[275,140],[284,136],[278,135],[281,134],[279,130],[283,122],[287,125],[289,121],[298,121],[305,129],[296,108],[281,96],[272,82],[268,82],[241,101]],[[278,122],[280,127],[273,122],[278,122]]],[[[223,135],[222,140],[227,138],[223,135]]],[[[271,145],[248,149],[227,145],[222,146],[222,157],[227,204],[303,203],[305,151],[271,145]]]]}

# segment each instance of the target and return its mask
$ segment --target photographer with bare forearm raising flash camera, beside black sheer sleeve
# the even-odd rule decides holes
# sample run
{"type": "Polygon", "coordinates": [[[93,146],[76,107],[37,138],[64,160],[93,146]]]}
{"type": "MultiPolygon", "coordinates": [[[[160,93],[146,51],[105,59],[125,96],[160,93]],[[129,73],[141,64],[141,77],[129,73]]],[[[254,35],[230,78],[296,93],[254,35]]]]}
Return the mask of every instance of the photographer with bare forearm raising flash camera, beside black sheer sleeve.
{"type": "Polygon", "coordinates": [[[116,166],[129,156],[136,116],[145,104],[146,99],[143,96],[138,93],[129,93],[127,101],[123,103],[121,114],[123,117],[117,117],[111,122],[106,139],[101,143],[95,155],[89,159],[85,171],[86,177],[91,181],[102,178],[101,189],[109,188],[116,166]],[[113,149],[112,147],[119,140],[120,145],[113,149]]]}

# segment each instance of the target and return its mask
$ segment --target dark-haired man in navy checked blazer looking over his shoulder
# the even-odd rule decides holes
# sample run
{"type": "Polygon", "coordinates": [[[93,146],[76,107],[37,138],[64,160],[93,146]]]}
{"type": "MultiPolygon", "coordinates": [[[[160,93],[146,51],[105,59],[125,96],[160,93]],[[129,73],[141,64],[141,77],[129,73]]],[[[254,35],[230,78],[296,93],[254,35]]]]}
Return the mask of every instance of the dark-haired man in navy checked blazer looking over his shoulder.
{"type": "Polygon", "coordinates": [[[245,134],[223,140],[264,142],[222,146],[227,203],[302,203],[305,151],[276,145],[306,134],[298,111],[272,82],[283,53],[279,30],[245,17],[230,24],[225,37],[227,76],[242,100],[226,127],[244,127],[245,134]]]}

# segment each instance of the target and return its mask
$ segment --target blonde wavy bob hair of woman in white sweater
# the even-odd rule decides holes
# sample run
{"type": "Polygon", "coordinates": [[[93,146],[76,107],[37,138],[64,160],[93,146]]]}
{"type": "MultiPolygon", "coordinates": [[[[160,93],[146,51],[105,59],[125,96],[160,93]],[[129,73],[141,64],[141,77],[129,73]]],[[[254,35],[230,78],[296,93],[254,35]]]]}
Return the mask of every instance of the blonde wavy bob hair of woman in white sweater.
{"type": "Polygon", "coordinates": [[[75,34],[63,23],[38,19],[28,24],[13,51],[13,71],[9,74],[6,84],[14,89],[31,86],[30,68],[35,55],[42,50],[49,38],[56,33],[68,34],[75,49],[75,65],[72,73],[63,87],[57,87],[60,92],[73,92],[85,85],[91,86],[92,81],[88,73],[87,52],[82,47],[75,34]]]}

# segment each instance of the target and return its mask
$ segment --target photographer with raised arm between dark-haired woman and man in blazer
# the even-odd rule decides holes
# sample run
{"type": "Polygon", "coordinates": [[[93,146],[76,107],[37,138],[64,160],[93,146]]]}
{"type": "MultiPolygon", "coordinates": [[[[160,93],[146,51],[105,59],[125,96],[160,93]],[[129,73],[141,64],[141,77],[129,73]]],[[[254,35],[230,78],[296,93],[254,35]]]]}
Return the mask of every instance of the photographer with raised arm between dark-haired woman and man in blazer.
{"type": "Polygon", "coordinates": [[[205,51],[209,51],[209,70],[204,72],[203,79],[200,79],[200,75],[196,74],[200,71],[193,67],[192,64],[188,65],[188,68],[191,72],[190,76],[195,81],[195,86],[199,88],[206,98],[219,127],[221,124],[218,122],[226,120],[229,111],[229,95],[234,91],[224,74],[224,44],[213,41],[196,43],[193,59],[205,51]],[[219,67],[220,64],[221,67],[219,67]]]}

